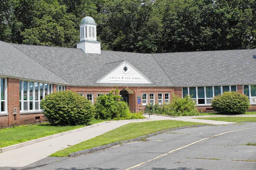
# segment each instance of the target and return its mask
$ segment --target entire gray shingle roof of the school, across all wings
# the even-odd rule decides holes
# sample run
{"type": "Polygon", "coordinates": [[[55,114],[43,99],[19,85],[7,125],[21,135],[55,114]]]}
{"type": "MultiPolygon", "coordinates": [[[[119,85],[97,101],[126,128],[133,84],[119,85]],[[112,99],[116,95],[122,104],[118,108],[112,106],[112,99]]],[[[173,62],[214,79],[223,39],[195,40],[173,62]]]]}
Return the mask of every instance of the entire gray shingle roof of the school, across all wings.
{"type": "Polygon", "coordinates": [[[101,54],[88,54],[76,48],[2,41],[0,46],[3,58],[0,75],[67,85],[179,87],[256,84],[256,59],[253,58],[256,49],[161,54],[101,51],[101,54]],[[155,84],[95,84],[96,80],[124,60],[128,60],[155,84]]]}

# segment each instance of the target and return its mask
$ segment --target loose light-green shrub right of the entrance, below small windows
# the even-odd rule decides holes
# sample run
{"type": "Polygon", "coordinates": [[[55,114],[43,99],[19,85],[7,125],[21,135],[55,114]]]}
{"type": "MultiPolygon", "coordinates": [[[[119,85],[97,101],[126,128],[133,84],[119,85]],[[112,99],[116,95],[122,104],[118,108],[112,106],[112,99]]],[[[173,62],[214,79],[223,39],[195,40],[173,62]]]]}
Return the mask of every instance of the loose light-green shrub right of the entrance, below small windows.
{"type": "Polygon", "coordinates": [[[197,116],[199,112],[196,108],[196,103],[189,97],[180,98],[176,95],[172,95],[172,100],[165,108],[175,109],[175,115],[173,116],[197,116]]]}

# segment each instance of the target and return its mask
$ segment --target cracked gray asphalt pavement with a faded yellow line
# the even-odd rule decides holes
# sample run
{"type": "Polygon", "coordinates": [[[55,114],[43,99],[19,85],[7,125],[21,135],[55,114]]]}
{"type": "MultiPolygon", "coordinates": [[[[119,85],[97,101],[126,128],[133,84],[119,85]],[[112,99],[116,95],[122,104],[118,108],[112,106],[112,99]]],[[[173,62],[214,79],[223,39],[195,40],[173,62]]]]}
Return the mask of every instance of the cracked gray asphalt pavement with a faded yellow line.
{"type": "Polygon", "coordinates": [[[48,157],[13,169],[252,170],[256,169],[256,146],[247,146],[249,142],[256,143],[256,123],[209,125],[169,131],[75,158],[48,157]]]}

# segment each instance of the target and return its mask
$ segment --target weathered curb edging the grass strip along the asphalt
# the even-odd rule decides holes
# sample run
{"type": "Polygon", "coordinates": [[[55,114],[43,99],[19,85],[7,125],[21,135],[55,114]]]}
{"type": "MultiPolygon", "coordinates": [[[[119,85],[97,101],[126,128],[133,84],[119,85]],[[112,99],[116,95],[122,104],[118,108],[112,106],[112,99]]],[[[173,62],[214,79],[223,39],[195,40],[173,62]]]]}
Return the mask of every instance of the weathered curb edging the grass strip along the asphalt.
{"type": "Polygon", "coordinates": [[[154,135],[158,135],[158,134],[161,134],[161,133],[164,133],[164,132],[167,132],[167,131],[186,129],[186,128],[194,128],[194,127],[200,127],[200,126],[206,126],[206,124],[190,125],[190,126],[183,126],[183,127],[179,127],[179,128],[166,129],[166,130],[154,132],[154,133],[151,133],[151,134],[148,134],[148,135],[139,136],[137,138],[133,138],[133,139],[129,139],[129,140],[121,140],[121,141],[109,143],[109,144],[106,144],[106,145],[103,145],[103,146],[98,146],[98,147],[85,149],[85,150],[81,150],[81,151],[76,151],[76,152],[70,153],[68,156],[71,157],[71,158],[74,158],[74,157],[77,157],[77,156],[80,156],[80,155],[86,155],[88,153],[92,153],[92,152],[95,152],[95,151],[107,149],[107,148],[110,148],[112,146],[119,145],[119,144],[122,144],[122,143],[134,142],[134,141],[138,141],[138,140],[141,140],[141,139],[145,139],[145,138],[148,138],[148,137],[151,137],[151,136],[154,136],[154,135]]]}

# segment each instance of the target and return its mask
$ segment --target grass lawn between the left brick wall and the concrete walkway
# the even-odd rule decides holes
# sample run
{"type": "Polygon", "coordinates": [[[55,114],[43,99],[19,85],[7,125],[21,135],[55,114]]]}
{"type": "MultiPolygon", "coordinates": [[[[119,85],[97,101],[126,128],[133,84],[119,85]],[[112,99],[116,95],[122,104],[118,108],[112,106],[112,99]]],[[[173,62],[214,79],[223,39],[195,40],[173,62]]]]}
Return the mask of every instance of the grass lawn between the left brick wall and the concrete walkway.
{"type": "MultiPolygon", "coordinates": [[[[100,123],[105,120],[92,120],[88,125],[100,123]]],[[[54,135],[65,131],[70,131],[87,126],[86,124],[76,126],[52,126],[49,123],[21,125],[14,128],[0,130],[0,148],[14,145],[41,137],[54,135]]]]}

